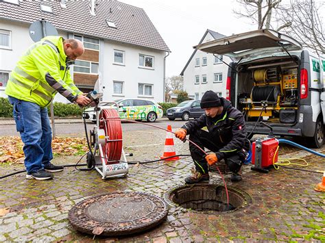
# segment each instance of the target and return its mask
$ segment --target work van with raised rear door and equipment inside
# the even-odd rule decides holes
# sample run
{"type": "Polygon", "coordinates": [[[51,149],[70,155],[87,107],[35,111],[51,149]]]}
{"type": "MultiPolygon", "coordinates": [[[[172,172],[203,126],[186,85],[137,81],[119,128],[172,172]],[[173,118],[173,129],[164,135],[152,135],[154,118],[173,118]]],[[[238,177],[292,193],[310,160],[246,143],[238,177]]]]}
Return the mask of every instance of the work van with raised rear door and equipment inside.
{"type": "MultiPolygon", "coordinates": [[[[197,49],[228,55],[226,98],[245,116],[248,133],[304,137],[324,144],[325,56],[271,29],[259,29],[199,44],[197,49]]],[[[215,90],[219,91],[219,90],[215,90]]]]}

